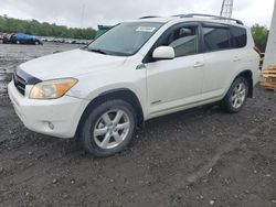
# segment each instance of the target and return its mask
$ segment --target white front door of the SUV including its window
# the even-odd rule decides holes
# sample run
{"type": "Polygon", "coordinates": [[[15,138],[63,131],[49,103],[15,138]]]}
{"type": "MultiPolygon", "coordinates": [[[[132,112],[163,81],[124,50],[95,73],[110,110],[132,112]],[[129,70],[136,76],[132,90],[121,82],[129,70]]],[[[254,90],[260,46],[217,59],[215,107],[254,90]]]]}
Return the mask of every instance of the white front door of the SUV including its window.
{"type": "Polygon", "coordinates": [[[201,100],[204,66],[198,25],[182,24],[157,46],[171,46],[176,58],[147,63],[149,115],[166,113],[201,100]]]}

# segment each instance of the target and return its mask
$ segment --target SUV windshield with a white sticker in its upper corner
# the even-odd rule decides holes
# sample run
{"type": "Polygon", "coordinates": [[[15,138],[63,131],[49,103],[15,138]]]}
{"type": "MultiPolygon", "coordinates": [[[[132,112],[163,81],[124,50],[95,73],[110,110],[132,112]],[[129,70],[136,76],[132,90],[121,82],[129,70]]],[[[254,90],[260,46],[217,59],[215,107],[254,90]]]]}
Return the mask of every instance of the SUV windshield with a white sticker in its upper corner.
{"type": "Polygon", "coordinates": [[[96,53],[130,56],[162,25],[158,22],[128,22],[110,29],[105,34],[92,42],[87,50],[96,53]]]}

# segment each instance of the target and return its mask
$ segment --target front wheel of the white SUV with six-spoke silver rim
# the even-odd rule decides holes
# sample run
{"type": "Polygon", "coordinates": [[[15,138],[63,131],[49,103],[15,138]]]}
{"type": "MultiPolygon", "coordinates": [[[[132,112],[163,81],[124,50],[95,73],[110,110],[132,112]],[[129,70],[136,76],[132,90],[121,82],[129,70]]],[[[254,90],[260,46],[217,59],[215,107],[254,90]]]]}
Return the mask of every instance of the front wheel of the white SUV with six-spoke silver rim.
{"type": "Polygon", "coordinates": [[[131,141],[137,119],[131,105],[107,100],[92,108],[79,126],[78,139],[86,152],[106,157],[123,151],[131,141]]]}

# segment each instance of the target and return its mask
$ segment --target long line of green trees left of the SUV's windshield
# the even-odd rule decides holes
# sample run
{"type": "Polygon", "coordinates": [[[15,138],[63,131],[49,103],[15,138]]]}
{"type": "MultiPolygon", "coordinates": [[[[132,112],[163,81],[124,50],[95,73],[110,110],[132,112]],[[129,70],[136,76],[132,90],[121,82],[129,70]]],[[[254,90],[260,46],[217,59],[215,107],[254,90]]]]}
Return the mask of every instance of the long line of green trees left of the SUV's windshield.
{"type": "Polygon", "coordinates": [[[63,25],[50,24],[47,22],[41,23],[36,20],[18,20],[13,18],[8,18],[7,15],[0,15],[0,32],[22,32],[38,36],[54,36],[85,40],[93,40],[96,35],[96,31],[92,28],[73,29],[63,25]]]}

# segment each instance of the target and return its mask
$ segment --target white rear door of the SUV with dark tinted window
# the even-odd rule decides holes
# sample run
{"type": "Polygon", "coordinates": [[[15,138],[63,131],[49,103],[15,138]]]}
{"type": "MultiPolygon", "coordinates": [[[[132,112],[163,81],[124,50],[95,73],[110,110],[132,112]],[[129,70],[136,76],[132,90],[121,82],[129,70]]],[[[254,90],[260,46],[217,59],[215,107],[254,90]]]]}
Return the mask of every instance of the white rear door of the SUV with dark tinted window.
{"type": "Polygon", "coordinates": [[[227,87],[241,61],[235,53],[231,30],[219,23],[203,23],[204,77],[202,96],[204,99],[220,97],[227,87]]]}

